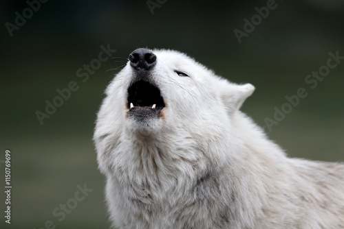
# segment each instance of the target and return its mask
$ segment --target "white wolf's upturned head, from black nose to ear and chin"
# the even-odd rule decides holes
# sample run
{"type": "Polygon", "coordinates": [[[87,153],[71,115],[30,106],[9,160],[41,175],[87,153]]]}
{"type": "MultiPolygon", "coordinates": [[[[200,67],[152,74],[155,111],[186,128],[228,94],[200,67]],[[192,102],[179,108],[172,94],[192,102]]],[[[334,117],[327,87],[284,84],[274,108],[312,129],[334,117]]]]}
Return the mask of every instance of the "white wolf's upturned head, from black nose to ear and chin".
{"type": "Polygon", "coordinates": [[[251,84],[220,79],[183,53],[136,49],[107,88],[98,124],[143,135],[176,125],[202,132],[197,125],[223,123],[253,91],[251,84]]]}

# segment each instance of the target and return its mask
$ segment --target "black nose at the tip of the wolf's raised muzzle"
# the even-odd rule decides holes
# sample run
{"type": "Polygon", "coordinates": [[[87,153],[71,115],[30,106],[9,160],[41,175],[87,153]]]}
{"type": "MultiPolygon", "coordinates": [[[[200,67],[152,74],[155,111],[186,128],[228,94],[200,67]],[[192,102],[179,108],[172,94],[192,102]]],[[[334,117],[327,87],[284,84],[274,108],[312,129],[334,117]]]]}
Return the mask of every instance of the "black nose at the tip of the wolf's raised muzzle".
{"type": "Polygon", "coordinates": [[[130,65],[134,69],[149,70],[156,64],[156,56],[148,49],[136,49],[129,55],[130,65]]]}

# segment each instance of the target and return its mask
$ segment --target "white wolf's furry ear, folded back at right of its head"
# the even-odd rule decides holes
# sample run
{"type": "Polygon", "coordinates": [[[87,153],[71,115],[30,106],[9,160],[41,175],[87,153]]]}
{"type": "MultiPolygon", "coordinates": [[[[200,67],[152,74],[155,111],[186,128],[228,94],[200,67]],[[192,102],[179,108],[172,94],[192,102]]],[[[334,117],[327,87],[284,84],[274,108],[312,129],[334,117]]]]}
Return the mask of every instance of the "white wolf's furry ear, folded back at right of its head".
{"type": "Polygon", "coordinates": [[[222,100],[229,114],[239,110],[244,101],[255,91],[252,84],[233,84],[226,82],[220,86],[222,100]]]}

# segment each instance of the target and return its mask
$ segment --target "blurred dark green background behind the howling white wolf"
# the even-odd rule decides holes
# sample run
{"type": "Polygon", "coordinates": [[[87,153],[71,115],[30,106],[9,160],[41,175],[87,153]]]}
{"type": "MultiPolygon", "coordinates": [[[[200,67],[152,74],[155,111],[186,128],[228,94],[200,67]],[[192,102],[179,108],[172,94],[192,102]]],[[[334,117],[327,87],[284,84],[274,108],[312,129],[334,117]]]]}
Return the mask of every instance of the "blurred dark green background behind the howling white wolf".
{"type": "Polygon", "coordinates": [[[326,71],[330,52],[344,56],[343,0],[41,1],[0,1],[3,186],[12,154],[12,218],[5,223],[1,192],[0,228],[109,228],[92,133],[105,87],[138,47],[176,49],[250,82],[256,91],[241,110],[289,156],[344,160],[344,60],[305,82],[326,71]],[[71,82],[67,99],[56,99],[71,82]],[[307,97],[269,128],[299,88],[307,97]]]}

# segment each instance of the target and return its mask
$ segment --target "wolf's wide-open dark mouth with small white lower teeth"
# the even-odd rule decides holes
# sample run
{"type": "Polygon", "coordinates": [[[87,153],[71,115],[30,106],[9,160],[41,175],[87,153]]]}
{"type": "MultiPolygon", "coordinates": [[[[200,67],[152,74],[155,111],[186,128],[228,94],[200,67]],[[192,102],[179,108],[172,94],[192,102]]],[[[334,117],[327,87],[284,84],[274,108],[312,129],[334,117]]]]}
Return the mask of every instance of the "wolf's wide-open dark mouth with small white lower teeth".
{"type": "Polygon", "coordinates": [[[164,99],[160,95],[160,90],[153,84],[139,80],[133,83],[128,88],[128,108],[136,110],[144,108],[144,110],[155,111],[160,114],[162,108],[164,108],[164,99]]]}

